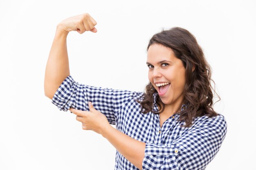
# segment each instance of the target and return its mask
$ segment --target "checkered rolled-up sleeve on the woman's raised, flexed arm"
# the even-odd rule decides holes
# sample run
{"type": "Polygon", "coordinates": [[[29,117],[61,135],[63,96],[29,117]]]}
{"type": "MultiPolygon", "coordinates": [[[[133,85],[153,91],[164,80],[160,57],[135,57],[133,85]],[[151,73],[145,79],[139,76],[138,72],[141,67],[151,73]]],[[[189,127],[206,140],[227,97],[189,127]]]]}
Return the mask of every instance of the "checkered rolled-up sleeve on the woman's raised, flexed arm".
{"type": "Polygon", "coordinates": [[[110,124],[115,124],[116,114],[121,107],[139,92],[113,90],[80,84],[71,75],[65,78],[52,98],[59,110],[67,112],[70,108],[89,110],[88,102],[103,113],[110,124]]]}

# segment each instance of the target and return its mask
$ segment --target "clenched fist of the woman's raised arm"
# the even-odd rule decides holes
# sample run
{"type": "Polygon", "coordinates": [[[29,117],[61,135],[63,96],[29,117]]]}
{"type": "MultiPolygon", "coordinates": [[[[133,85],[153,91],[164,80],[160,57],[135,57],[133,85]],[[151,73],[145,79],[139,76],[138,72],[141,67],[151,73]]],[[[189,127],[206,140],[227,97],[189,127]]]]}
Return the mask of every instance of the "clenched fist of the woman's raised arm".
{"type": "Polygon", "coordinates": [[[89,15],[89,13],[83,13],[61,21],[58,24],[58,29],[61,29],[65,34],[68,34],[70,31],[77,31],[80,34],[85,31],[96,33],[97,29],[94,27],[96,24],[97,22],[89,15]]]}

